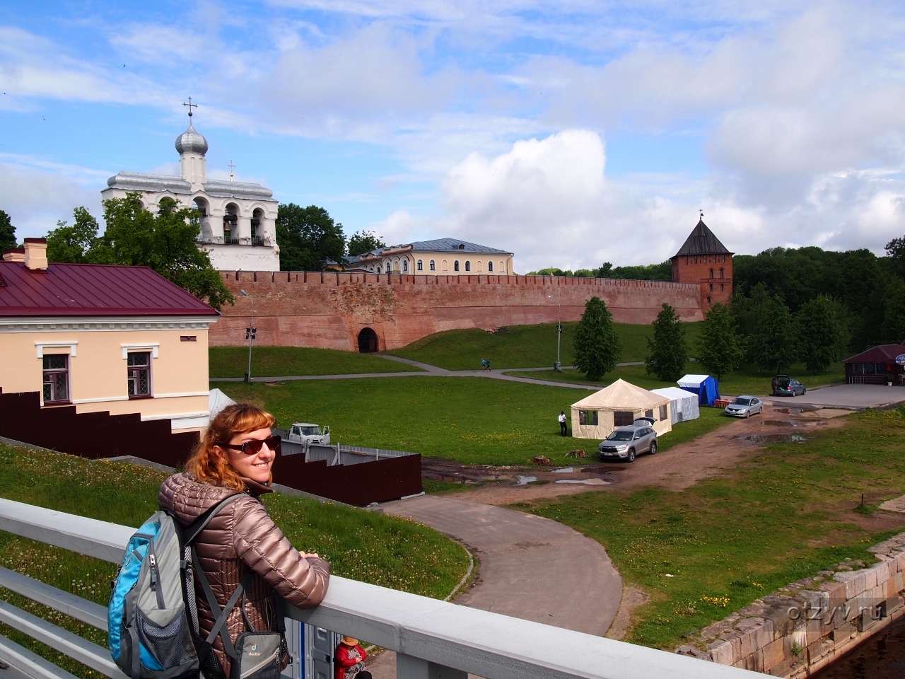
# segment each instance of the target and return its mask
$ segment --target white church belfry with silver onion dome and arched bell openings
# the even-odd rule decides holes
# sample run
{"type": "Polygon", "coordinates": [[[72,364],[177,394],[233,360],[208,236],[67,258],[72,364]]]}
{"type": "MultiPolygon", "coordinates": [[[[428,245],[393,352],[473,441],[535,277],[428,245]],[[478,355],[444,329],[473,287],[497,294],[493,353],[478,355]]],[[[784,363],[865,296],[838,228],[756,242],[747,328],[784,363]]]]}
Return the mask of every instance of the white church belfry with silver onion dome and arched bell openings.
{"type": "Polygon", "coordinates": [[[273,192],[260,184],[208,181],[205,171],[207,139],[192,127],[189,108],[188,129],[176,138],[179,177],[119,172],[107,180],[100,192],[103,199],[123,198],[141,193],[142,206],[154,211],[165,198],[200,214],[198,247],[210,254],[219,271],[280,271],[277,246],[277,201],[273,192]]]}

